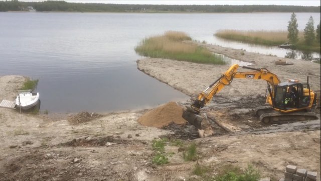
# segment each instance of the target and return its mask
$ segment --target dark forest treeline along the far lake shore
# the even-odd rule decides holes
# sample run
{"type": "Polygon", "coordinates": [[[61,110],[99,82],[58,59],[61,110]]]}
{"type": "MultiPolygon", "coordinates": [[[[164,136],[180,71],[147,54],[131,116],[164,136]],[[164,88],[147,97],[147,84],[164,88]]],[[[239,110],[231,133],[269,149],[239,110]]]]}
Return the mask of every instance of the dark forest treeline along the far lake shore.
{"type": "Polygon", "coordinates": [[[64,1],[19,2],[0,1],[0,12],[28,11],[33,7],[38,12],[145,12],[145,13],[256,13],[256,12],[310,12],[319,13],[320,7],[276,5],[117,5],[97,3],[67,3],[64,1]]]}

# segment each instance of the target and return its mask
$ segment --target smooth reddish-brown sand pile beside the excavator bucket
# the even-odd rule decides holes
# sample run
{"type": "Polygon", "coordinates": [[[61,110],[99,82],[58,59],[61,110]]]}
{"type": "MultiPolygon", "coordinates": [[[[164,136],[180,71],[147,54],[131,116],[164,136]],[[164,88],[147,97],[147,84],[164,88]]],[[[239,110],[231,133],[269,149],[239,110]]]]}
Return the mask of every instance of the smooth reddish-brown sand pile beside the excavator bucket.
{"type": "Polygon", "coordinates": [[[185,124],[187,121],[182,118],[183,109],[174,102],[148,111],[140,118],[138,123],[144,126],[162,128],[170,123],[185,124]]]}

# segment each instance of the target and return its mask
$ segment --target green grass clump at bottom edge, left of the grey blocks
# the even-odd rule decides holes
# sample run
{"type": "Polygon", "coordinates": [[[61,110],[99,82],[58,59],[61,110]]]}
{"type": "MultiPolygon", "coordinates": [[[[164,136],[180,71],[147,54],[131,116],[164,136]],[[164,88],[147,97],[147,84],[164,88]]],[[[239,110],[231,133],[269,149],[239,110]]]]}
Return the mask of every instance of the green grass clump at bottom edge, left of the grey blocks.
{"type": "Polygon", "coordinates": [[[215,181],[257,181],[260,178],[260,173],[248,164],[245,170],[233,165],[224,166],[220,173],[213,177],[215,181]]]}

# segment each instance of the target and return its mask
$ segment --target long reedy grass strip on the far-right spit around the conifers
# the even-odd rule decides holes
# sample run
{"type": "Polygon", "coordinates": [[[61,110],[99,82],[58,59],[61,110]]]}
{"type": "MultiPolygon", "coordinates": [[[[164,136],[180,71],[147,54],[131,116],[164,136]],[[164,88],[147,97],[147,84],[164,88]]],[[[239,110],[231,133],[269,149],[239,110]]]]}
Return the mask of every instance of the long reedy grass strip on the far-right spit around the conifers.
{"type": "MultiPolygon", "coordinates": [[[[245,43],[253,43],[266,46],[277,46],[288,42],[287,31],[238,31],[238,30],[220,30],[214,35],[228,40],[236,40],[245,43]]],[[[314,42],[308,46],[304,41],[304,33],[299,32],[299,41],[294,49],[303,51],[320,52],[320,44],[314,42]]]]}

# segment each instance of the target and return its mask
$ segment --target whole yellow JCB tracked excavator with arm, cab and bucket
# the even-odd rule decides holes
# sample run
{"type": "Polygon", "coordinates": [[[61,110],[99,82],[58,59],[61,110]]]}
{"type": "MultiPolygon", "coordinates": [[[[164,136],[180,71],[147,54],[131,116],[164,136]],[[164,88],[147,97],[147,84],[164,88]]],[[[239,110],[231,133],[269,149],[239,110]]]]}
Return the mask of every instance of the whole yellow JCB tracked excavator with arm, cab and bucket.
{"type": "Polygon", "coordinates": [[[267,82],[266,104],[268,106],[255,109],[255,114],[261,122],[282,123],[317,119],[316,115],[311,112],[312,108],[317,105],[317,97],[309,87],[308,77],[306,83],[293,79],[281,82],[277,75],[266,68],[242,66],[242,68],[251,70],[247,72],[238,72],[238,68],[238,64],[232,65],[210,84],[196,100],[192,101],[192,105],[184,108],[182,117],[189,122],[194,122],[199,118],[198,114],[201,109],[209,104],[225,85],[231,84],[234,78],[246,78],[262,79],[267,82]],[[209,91],[208,94],[207,91],[209,91]]]}

